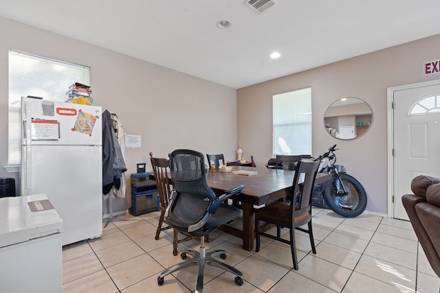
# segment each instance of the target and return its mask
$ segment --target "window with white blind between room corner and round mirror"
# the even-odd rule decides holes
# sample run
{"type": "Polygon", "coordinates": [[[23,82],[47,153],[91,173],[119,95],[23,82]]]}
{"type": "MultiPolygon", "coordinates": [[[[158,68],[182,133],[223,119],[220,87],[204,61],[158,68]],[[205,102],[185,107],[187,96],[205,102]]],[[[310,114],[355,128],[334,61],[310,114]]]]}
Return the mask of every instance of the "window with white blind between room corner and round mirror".
{"type": "Polygon", "coordinates": [[[273,96],[276,154],[311,154],[311,88],[273,96]]]}

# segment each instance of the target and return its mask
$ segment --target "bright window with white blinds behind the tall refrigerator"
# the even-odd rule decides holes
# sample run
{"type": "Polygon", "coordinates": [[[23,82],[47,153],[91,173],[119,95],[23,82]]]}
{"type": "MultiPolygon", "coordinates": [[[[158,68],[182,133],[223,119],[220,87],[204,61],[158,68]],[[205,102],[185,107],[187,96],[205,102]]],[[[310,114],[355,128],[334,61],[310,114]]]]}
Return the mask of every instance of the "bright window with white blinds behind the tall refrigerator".
{"type": "Polygon", "coordinates": [[[90,85],[90,67],[9,51],[8,165],[21,163],[21,97],[64,102],[74,82],[90,85]]]}

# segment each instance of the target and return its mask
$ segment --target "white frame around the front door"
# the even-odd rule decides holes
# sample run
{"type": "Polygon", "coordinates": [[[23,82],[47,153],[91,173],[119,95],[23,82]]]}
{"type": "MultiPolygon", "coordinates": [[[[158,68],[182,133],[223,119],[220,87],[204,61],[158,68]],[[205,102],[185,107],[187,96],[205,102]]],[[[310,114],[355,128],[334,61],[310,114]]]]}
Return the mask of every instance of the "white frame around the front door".
{"type": "MultiPolygon", "coordinates": [[[[430,80],[428,82],[417,82],[414,84],[404,84],[401,86],[392,86],[387,89],[387,100],[386,100],[386,113],[388,113],[388,130],[387,130],[387,168],[388,168],[388,218],[394,218],[394,205],[393,205],[393,196],[394,196],[394,156],[393,156],[393,148],[394,148],[394,111],[393,111],[393,99],[394,93],[396,91],[404,91],[408,89],[417,89],[426,86],[435,86],[440,85],[440,80],[430,80]]],[[[403,195],[403,194],[402,194],[403,195]]]]}

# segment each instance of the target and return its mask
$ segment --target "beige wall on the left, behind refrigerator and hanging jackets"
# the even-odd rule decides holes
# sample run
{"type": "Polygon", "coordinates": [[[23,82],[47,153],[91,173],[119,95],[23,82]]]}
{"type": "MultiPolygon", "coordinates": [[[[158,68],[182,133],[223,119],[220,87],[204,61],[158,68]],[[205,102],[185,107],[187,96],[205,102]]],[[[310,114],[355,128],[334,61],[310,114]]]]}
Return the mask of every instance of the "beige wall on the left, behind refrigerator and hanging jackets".
{"type": "MultiPolygon", "coordinates": [[[[136,163],[151,170],[150,151],[192,148],[235,159],[235,89],[1,17],[0,35],[0,166],[8,164],[9,49],[91,67],[95,104],[116,113],[127,134],[142,135],[142,148],[125,150],[126,177],[136,163]]],[[[18,180],[3,167],[0,177],[18,180]]]]}

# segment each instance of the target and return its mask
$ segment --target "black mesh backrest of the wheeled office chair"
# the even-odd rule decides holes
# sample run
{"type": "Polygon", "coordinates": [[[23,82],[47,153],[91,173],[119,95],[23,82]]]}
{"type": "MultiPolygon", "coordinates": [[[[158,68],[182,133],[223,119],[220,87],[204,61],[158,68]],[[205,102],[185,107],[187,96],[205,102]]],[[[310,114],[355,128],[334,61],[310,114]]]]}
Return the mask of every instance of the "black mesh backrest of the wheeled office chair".
{"type": "Polygon", "coordinates": [[[168,221],[179,231],[187,231],[188,225],[205,217],[216,200],[206,183],[204,163],[203,154],[193,150],[175,150],[170,156],[170,175],[177,192],[168,211],[168,221]]]}

